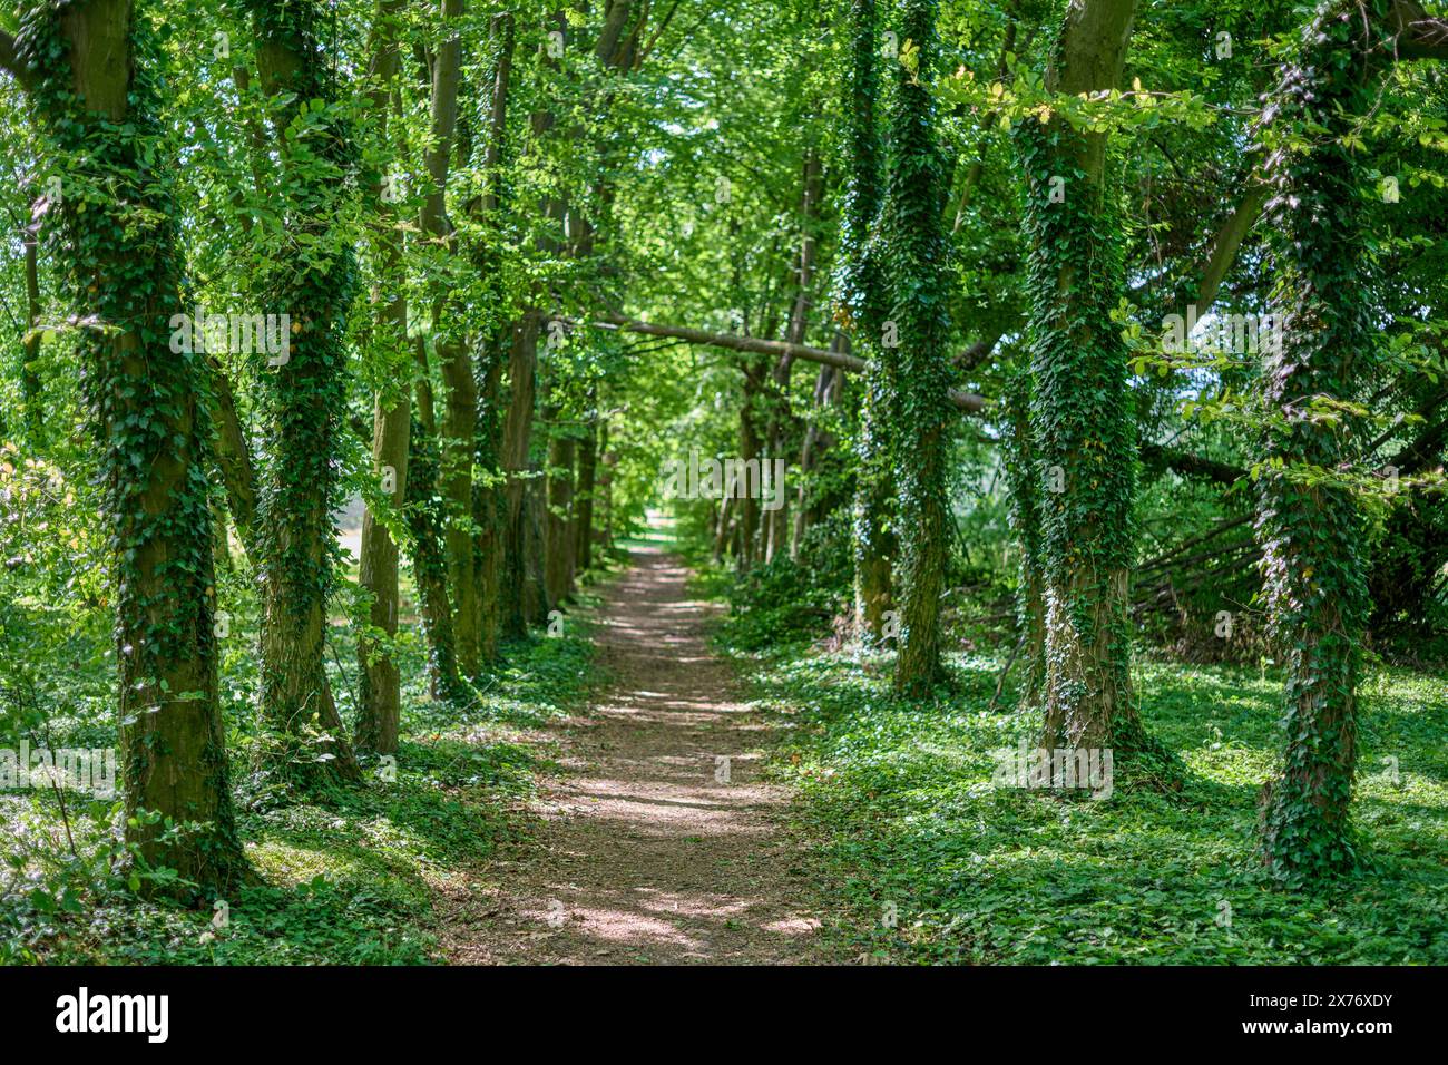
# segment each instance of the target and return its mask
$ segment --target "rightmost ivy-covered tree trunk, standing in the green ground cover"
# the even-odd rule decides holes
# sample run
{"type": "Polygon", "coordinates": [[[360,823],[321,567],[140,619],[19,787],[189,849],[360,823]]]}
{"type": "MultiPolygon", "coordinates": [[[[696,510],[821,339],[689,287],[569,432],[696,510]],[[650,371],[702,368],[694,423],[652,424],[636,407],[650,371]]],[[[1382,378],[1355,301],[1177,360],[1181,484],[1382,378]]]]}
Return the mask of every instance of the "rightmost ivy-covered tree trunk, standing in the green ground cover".
{"type": "MultiPolygon", "coordinates": [[[[1374,14],[1383,14],[1377,4],[1374,14]]],[[[1266,206],[1281,343],[1263,368],[1270,404],[1258,481],[1263,593],[1286,658],[1281,775],[1263,790],[1263,856],[1284,878],[1355,862],[1348,824],[1357,672],[1367,619],[1364,526],[1338,471],[1363,443],[1357,398],[1378,325],[1363,232],[1363,167],[1344,141],[1374,104],[1390,48],[1357,3],[1322,4],[1264,112],[1266,206]],[[1364,35],[1367,35],[1364,38],[1364,35]]]]}

